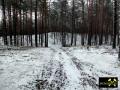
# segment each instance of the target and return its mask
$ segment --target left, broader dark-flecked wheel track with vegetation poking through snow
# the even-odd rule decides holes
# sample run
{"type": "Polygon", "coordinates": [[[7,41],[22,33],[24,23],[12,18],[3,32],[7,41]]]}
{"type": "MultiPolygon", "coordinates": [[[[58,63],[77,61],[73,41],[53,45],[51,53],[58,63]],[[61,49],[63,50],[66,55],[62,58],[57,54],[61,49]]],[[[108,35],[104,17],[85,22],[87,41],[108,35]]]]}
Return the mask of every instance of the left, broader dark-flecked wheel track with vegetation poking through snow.
{"type": "Polygon", "coordinates": [[[36,75],[34,82],[25,86],[25,90],[28,88],[30,90],[65,90],[65,87],[67,87],[69,82],[63,64],[59,61],[59,53],[54,49],[51,50],[53,51],[51,59],[43,64],[43,68],[36,75]]]}

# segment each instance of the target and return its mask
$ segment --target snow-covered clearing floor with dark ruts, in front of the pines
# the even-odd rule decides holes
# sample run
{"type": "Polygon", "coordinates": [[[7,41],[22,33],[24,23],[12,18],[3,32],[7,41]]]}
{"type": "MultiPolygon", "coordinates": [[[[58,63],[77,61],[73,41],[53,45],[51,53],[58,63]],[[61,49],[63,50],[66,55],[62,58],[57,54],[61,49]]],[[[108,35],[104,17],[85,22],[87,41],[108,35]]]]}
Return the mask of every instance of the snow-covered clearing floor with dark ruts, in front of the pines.
{"type": "Polygon", "coordinates": [[[77,46],[0,50],[0,90],[99,89],[99,77],[120,78],[116,50],[77,46]]]}

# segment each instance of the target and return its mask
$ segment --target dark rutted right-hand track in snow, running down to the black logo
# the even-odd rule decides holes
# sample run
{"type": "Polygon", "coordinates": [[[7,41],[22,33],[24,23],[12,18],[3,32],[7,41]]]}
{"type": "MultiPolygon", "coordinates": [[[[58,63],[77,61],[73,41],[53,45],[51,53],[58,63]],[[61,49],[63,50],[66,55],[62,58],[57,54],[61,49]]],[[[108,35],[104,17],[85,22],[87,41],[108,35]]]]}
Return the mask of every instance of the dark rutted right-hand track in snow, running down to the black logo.
{"type": "Polygon", "coordinates": [[[98,88],[98,79],[99,79],[99,73],[105,74],[105,75],[112,75],[112,73],[104,71],[104,70],[98,70],[94,67],[93,64],[88,62],[80,62],[80,59],[73,56],[70,52],[67,52],[65,49],[61,48],[61,50],[66,53],[73,63],[76,65],[77,69],[80,71],[82,78],[80,78],[81,84],[83,86],[86,86],[87,84],[92,86],[93,89],[99,90],[98,88]],[[87,69],[88,72],[85,71],[87,69]],[[94,71],[98,73],[94,73],[94,71]],[[91,74],[90,74],[91,73],[91,74]]]}

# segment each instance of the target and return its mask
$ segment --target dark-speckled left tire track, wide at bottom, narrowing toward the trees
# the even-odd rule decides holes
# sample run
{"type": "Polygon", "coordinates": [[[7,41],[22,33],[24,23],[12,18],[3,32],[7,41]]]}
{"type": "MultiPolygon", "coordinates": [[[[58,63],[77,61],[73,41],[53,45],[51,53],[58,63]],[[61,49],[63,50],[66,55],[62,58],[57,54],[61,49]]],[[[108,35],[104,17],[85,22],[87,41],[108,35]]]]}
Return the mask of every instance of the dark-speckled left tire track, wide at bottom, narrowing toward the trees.
{"type": "Polygon", "coordinates": [[[68,83],[63,65],[57,60],[59,59],[57,57],[58,53],[55,53],[42,70],[41,78],[40,80],[38,79],[36,84],[37,90],[64,90],[68,83]]]}

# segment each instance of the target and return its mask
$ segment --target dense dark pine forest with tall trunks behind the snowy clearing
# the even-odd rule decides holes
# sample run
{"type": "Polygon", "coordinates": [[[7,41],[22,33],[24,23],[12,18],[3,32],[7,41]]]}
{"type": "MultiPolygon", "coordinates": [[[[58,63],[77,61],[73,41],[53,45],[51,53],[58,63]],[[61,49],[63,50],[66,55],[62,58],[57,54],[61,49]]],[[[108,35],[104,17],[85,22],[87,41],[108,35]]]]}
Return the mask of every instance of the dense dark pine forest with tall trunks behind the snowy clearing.
{"type": "Polygon", "coordinates": [[[119,45],[119,0],[0,0],[0,7],[4,45],[48,47],[48,33],[63,47],[119,45]]]}

